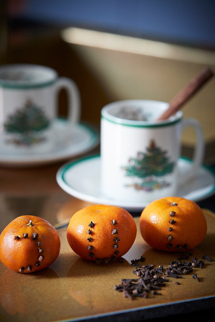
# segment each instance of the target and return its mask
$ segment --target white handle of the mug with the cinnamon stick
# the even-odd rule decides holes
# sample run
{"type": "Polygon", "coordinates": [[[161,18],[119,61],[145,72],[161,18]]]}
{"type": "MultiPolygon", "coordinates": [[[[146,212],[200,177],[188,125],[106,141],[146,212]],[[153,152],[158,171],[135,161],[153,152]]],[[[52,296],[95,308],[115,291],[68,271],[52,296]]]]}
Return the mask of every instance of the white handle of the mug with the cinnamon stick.
{"type": "Polygon", "coordinates": [[[186,177],[191,178],[196,175],[197,171],[199,170],[200,166],[202,165],[204,151],[205,151],[205,143],[204,143],[203,130],[200,126],[200,123],[195,118],[185,118],[182,120],[181,133],[184,128],[187,128],[189,126],[193,127],[195,130],[196,147],[195,147],[194,154],[193,154],[193,165],[192,165],[191,171],[189,172],[189,174],[186,173],[186,174],[182,174],[182,175],[184,175],[184,176],[186,175],[186,177]]]}

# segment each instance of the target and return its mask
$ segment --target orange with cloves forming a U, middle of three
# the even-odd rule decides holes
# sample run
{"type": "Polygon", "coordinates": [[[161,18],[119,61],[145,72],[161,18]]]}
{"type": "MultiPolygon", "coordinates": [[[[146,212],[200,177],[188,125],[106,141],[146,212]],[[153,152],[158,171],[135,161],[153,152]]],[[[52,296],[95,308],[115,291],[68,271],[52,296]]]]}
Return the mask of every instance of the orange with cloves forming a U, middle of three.
{"type": "Polygon", "coordinates": [[[135,221],[126,210],[97,204],[72,216],[67,240],[77,255],[97,263],[107,263],[127,253],[136,233],[135,221]]]}

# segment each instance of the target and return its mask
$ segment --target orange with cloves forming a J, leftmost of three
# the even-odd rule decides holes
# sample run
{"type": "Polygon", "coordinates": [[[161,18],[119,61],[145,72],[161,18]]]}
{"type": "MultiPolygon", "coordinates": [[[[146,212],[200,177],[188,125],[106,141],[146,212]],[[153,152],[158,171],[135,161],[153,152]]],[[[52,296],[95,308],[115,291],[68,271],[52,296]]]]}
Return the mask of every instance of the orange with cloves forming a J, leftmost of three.
{"type": "Polygon", "coordinates": [[[42,270],[56,260],[59,252],[56,229],[40,217],[17,217],[0,235],[0,260],[16,272],[42,270]]]}

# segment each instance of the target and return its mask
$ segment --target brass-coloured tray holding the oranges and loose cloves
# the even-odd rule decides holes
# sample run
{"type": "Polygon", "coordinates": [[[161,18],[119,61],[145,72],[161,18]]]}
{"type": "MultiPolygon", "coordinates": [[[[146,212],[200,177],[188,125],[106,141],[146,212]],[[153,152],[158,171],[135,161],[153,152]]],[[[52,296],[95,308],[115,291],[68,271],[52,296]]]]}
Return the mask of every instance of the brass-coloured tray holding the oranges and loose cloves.
{"type": "MultiPolygon", "coordinates": [[[[215,259],[215,216],[204,210],[208,232],[203,242],[193,249],[193,256],[206,254],[215,259]]],[[[97,265],[77,256],[69,247],[66,229],[59,229],[61,251],[55,263],[45,270],[20,274],[8,270],[0,262],[0,321],[79,321],[102,320],[138,321],[144,317],[166,316],[190,312],[214,305],[215,265],[205,260],[203,269],[194,269],[200,282],[192,274],[183,276],[180,285],[170,278],[162,288],[162,295],[129,300],[114,290],[121,278],[135,278],[130,260],[146,257],[146,264],[169,264],[178,253],[152,249],[141,237],[139,217],[137,238],[124,255],[124,262],[97,265]],[[213,303],[213,304],[212,304],[213,303]]],[[[145,264],[144,263],[144,264],[145,264]]],[[[177,280],[178,281],[178,280],[177,280]]]]}

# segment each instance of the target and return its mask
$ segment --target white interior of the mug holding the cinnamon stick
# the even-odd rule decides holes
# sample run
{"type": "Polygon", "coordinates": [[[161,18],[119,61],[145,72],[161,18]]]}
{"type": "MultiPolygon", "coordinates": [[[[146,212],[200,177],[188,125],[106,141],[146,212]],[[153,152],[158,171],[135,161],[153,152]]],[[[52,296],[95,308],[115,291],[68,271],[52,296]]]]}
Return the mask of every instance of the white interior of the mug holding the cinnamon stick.
{"type": "Polygon", "coordinates": [[[107,104],[101,110],[101,115],[112,122],[130,126],[148,126],[158,123],[168,124],[182,118],[183,113],[178,111],[167,120],[158,121],[157,119],[168,107],[169,103],[166,102],[146,99],[128,99],[107,104]],[[138,116],[139,119],[123,118],[123,111],[126,111],[126,114],[130,116],[136,113],[135,116],[138,116]]]}

